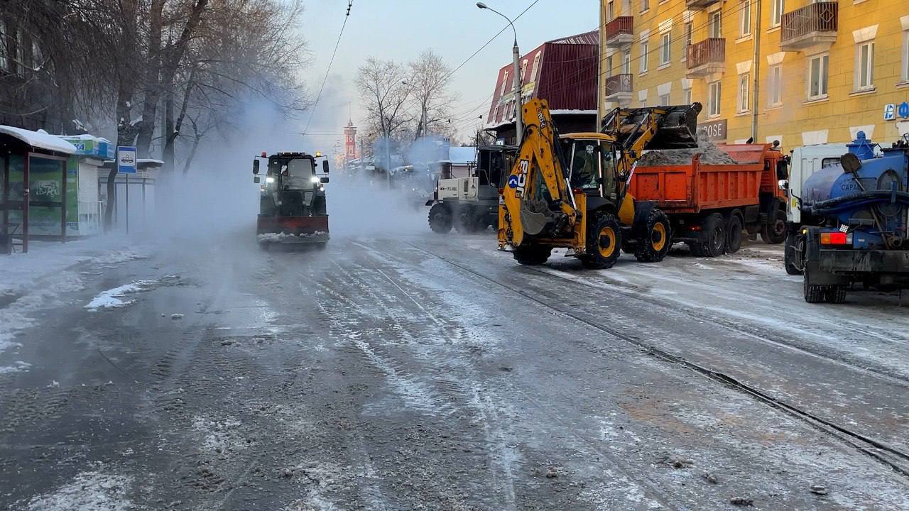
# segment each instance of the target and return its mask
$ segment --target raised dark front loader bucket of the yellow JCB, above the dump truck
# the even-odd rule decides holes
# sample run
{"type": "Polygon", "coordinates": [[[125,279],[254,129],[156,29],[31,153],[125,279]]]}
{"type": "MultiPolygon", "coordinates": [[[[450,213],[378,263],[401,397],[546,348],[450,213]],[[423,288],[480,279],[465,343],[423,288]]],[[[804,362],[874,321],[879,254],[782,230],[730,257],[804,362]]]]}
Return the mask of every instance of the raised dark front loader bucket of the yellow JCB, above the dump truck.
{"type": "Polygon", "coordinates": [[[604,117],[602,128],[604,133],[615,134],[619,145],[625,147],[647,128],[650,117],[659,129],[644,149],[691,149],[697,147],[697,115],[701,109],[700,103],[615,108],[604,117]]]}

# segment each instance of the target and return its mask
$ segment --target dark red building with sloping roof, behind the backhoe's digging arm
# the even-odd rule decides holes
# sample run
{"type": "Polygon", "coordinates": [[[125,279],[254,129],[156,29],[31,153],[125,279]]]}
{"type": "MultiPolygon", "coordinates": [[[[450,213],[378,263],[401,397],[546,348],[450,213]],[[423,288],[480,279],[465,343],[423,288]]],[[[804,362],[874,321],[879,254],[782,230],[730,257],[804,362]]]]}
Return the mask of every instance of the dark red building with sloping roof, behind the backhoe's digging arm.
{"type": "MultiPolygon", "coordinates": [[[[547,41],[521,57],[521,95],[545,99],[560,133],[595,130],[599,32],[547,41]]],[[[486,129],[505,144],[514,143],[514,65],[495,79],[486,129]]]]}

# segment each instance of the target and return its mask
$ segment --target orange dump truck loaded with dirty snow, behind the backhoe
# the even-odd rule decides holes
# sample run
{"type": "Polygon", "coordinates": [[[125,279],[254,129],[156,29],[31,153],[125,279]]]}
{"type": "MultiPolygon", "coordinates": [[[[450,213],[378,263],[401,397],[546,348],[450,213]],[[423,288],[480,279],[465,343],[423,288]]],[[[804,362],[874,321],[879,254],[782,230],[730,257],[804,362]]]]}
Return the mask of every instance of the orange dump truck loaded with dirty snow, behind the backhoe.
{"type": "Polygon", "coordinates": [[[674,242],[694,255],[736,252],[744,231],[765,243],[785,237],[786,159],[778,145],[716,145],[645,153],[630,192],[669,216],[674,242]],[[782,175],[782,177],[780,177],[782,175]]]}

